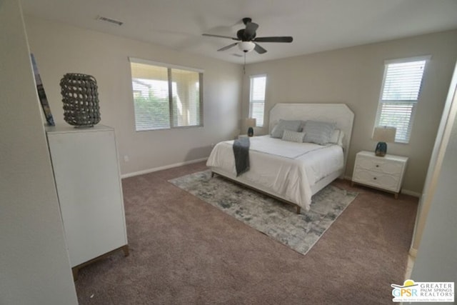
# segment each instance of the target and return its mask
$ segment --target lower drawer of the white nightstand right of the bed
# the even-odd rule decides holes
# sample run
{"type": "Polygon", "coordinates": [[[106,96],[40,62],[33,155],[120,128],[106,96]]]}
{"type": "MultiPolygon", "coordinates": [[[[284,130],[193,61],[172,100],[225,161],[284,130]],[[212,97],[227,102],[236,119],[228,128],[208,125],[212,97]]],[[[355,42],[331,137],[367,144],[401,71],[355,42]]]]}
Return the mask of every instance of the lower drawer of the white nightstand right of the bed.
{"type": "Polygon", "coordinates": [[[386,191],[398,192],[400,190],[400,176],[391,176],[357,168],[353,172],[352,180],[356,183],[375,186],[386,191]]]}

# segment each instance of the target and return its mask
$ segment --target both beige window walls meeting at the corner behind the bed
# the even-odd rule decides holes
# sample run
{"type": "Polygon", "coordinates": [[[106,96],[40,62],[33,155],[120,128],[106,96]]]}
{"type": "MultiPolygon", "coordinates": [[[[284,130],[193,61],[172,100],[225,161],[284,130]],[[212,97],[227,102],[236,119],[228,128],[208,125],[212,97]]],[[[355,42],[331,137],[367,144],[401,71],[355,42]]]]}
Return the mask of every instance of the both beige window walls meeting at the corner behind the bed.
{"type": "MultiPolygon", "coordinates": [[[[457,31],[445,31],[251,64],[246,66],[243,76],[242,67],[236,64],[31,16],[26,16],[26,28],[57,123],[65,124],[59,86],[61,76],[81,72],[96,77],[101,124],[116,129],[122,174],[208,156],[211,143],[238,134],[238,121],[248,113],[248,76],[267,74],[266,114],[278,102],[346,103],[351,107],[356,114],[346,169],[346,176],[351,176],[357,151],[373,150],[376,146],[371,132],[381,90],[383,61],[431,55],[411,141],[388,144],[389,153],[410,158],[403,188],[421,193],[457,58],[457,31]],[[134,131],[129,56],[204,69],[204,127],[134,131]],[[242,106],[239,103],[241,88],[242,106]],[[123,156],[129,156],[130,161],[124,161],[123,156]]],[[[268,117],[265,126],[268,126],[268,117]]],[[[266,128],[262,132],[266,133],[266,128]]]]}

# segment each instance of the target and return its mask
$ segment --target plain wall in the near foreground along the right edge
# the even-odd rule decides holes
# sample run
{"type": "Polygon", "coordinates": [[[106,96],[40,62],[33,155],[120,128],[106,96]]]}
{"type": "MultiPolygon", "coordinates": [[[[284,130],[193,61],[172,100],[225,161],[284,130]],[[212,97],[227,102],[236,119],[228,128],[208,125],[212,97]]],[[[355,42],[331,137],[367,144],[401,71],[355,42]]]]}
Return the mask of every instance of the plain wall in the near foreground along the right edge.
{"type": "Polygon", "coordinates": [[[411,273],[411,279],[415,281],[457,280],[457,79],[454,80],[449,91],[449,118],[443,127],[442,143],[438,143],[436,151],[436,173],[431,169],[431,179],[436,181],[432,181],[432,189],[428,190],[429,198],[423,201],[426,205],[423,209],[429,208],[429,211],[421,214],[422,221],[419,221],[416,231],[421,244],[415,245],[418,252],[411,273]]]}

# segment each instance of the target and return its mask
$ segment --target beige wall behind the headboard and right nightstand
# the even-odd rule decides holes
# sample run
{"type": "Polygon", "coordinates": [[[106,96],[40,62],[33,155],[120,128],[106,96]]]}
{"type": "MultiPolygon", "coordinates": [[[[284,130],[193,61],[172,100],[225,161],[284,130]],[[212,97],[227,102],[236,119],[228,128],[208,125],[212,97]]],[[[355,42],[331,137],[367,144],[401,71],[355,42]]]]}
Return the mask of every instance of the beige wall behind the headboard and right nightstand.
{"type": "Polygon", "coordinates": [[[346,103],[355,113],[346,176],[352,176],[356,153],[373,151],[383,61],[431,55],[409,144],[388,144],[388,153],[409,157],[403,189],[420,194],[428,161],[457,59],[457,31],[415,36],[377,44],[291,57],[246,66],[242,117],[248,116],[249,76],[267,75],[268,111],[276,103],[346,103]]]}

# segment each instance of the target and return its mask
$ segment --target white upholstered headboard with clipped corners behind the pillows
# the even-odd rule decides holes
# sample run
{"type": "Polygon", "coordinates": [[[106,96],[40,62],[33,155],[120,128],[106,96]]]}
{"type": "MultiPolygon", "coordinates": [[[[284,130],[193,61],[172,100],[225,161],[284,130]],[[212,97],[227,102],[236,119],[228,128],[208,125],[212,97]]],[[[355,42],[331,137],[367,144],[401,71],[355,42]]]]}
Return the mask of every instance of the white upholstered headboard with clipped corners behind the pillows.
{"type": "Polygon", "coordinates": [[[346,104],[276,104],[270,110],[268,132],[278,124],[279,119],[285,120],[314,120],[336,123],[336,128],[344,131],[344,168],[348,159],[349,144],[351,144],[354,113],[346,104]]]}

